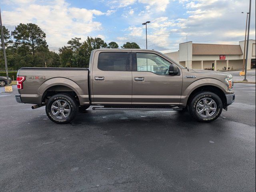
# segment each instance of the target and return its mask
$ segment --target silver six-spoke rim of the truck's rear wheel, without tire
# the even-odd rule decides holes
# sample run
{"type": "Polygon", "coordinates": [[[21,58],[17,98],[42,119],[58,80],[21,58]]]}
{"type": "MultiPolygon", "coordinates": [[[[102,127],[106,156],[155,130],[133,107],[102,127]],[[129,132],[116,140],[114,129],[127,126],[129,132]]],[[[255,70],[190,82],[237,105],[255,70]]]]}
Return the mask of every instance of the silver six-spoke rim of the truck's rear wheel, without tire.
{"type": "Polygon", "coordinates": [[[70,110],[70,104],[61,99],[54,101],[51,107],[52,114],[58,119],[64,119],[68,117],[70,110]]]}

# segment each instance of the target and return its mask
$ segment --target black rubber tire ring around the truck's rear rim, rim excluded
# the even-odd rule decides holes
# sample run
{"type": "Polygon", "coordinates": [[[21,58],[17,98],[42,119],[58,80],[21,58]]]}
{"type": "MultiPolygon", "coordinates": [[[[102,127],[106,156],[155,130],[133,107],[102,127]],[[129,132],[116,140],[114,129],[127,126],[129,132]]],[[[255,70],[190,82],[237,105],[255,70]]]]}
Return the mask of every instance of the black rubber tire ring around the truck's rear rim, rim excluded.
{"type": "Polygon", "coordinates": [[[77,106],[76,102],[70,96],[68,96],[66,94],[56,94],[48,100],[45,110],[46,110],[46,114],[50,120],[52,120],[53,122],[58,123],[58,124],[65,124],[65,123],[69,123],[70,121],[73,120],[74,116],[76,115],[77,108],[78,108],[78,106],[77,106]],[[64,101],[68,102],[68,104],[70,105],[70,114],[68,115],[68,117],[66,117],[64,119],[58,119],[53,116],[51,106],[56,100],[64,100],[64,101]]]}

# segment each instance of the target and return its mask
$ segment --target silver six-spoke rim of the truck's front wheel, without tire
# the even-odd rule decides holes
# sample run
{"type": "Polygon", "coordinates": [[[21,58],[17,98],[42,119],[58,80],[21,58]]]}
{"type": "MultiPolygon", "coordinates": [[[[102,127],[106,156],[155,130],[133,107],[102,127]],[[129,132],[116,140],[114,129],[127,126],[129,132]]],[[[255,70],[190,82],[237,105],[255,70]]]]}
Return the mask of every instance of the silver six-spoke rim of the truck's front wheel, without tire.
{"type": "Polygon", "coordinates": [[[196,104],[196,112],[201,117],[210,117],[212,116],[217,110],[216,102],[211,98],[203,98],[198,101],[196,104]]]}

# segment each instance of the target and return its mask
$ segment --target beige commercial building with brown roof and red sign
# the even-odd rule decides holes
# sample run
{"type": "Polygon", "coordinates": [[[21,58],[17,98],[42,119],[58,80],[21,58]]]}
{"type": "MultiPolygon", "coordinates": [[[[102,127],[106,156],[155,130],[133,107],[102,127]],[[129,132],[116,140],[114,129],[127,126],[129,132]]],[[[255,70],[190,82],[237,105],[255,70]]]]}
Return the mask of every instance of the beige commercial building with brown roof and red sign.
{"type": "MultiPolygon", "coordinates": [[[[255,40],[249,40],[247,69],[255,68],[255,40]]],[[[175,62],[194,69],[239,70],[243,68],[244,41],[239,45],[181,43],[179,51],[166,53],[175,62]]]]}

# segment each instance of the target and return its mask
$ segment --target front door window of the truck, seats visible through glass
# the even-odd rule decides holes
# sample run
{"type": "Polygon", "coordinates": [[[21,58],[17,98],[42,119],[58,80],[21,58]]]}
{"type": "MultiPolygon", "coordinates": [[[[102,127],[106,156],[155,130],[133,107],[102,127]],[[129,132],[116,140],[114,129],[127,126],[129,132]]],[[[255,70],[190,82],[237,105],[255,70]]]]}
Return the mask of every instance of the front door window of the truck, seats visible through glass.
{"type": "Polygon", "coordinates": [[[137,53],[137,71],[168,75],[170,62],[152,53],[137,53]]]}

